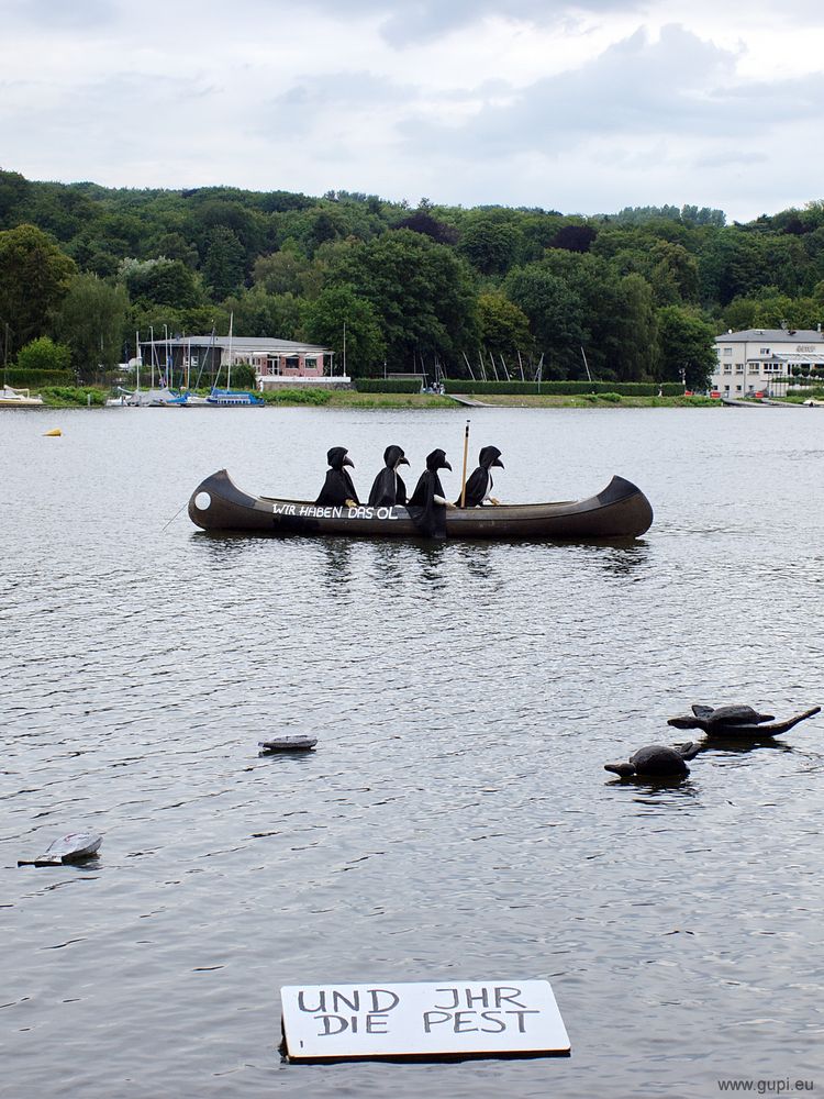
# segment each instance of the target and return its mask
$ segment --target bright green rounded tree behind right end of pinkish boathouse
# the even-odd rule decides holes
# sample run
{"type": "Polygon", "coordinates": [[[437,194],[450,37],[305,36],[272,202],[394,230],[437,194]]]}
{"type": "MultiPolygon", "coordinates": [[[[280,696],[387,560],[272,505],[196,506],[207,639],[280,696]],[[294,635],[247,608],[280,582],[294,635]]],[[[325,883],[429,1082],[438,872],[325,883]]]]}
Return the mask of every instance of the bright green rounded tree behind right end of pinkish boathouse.
{"type": "Polygon", "coordinates": [[[322,290],[309,306],[305,333],[313,342],[331,347],[343,369],[346,325],[346,371],[353,377],[377,373],[387,347],[371,302],[348,286],[322,290]]]}

